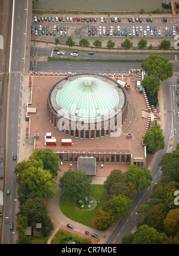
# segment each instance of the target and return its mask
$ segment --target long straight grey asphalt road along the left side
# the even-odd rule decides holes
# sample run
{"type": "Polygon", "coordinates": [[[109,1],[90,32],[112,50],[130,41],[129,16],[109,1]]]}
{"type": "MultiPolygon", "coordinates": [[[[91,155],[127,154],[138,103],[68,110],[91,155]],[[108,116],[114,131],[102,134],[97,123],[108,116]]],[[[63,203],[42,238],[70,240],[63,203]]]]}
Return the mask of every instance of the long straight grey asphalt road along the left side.
{"type": "Polygon", "coordinates": [[[5,175],[5,189],[10,189],[10,195],[5,194],[4,218],[9,217],[9,223],[4,223],[2,228],[2,243],[13,244],[14,233],[10,230],[10,222],[15,222],[16,210],[16,192],[17,183],[14,174],[14,168],[17,161],[13,160],[13,155],[18,158],[18,141],[20,138],[20,110],[21,110],[21,93],[23,90],[23,65],[24,65],[24,41],[26,40],[26,16],[27,1],[17,0],[14,5],[14,35],[11,49],[11,73],[10,88],[8,95],[8,121],[7,121],[7,162],[5,175]]]}

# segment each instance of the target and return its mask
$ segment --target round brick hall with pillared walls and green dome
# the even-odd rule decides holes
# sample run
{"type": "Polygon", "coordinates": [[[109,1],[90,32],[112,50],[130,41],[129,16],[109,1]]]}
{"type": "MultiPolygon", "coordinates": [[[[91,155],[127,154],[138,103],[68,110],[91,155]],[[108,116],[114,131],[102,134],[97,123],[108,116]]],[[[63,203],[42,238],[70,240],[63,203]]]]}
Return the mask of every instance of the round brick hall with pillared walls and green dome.
{"type": "Polygon", "coordinates": [[[121,132],[128,98],[109,77],[76,74],[55,83],[47,106],[53,127],[71,137],[91,139],[121,132]]]}

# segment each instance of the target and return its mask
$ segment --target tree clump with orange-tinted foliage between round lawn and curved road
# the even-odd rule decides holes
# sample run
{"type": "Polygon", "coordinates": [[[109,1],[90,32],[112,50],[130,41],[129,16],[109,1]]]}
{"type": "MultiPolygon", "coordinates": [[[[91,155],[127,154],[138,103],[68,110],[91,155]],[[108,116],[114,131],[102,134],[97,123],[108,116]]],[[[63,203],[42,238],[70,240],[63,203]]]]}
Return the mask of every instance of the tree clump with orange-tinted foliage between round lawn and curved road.
{"type": "Polygon", "coordinates": [[[94,223],[99,230],[106,230],[113,221],[126,218],[131,209],[131,198],[137,191],[150,186],[152,176],[146,167],[129,165],[124,173],[121,170],[113,170],[104,182],[109,200],[97,210],[94,223]]]}

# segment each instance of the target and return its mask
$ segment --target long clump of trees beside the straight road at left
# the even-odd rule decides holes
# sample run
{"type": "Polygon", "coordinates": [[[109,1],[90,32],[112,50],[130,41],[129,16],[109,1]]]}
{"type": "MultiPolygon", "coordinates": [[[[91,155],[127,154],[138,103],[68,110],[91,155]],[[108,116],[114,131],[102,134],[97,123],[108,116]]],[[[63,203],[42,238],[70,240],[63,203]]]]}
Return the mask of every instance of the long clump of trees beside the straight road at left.
{"type": "Polygon", "coordinates": [[[30,243],[24,235],[27,225],[33,227],[42,224],[42,235],[48,236],[53,229],[45,197],[55,195],[55,173],[60,171],[60,159],[51,149],[34,150],[29,160],[18,162],[14,173],[17,175],[18,201],[20,210],[17,213],[17,243],[30,243]]]}

